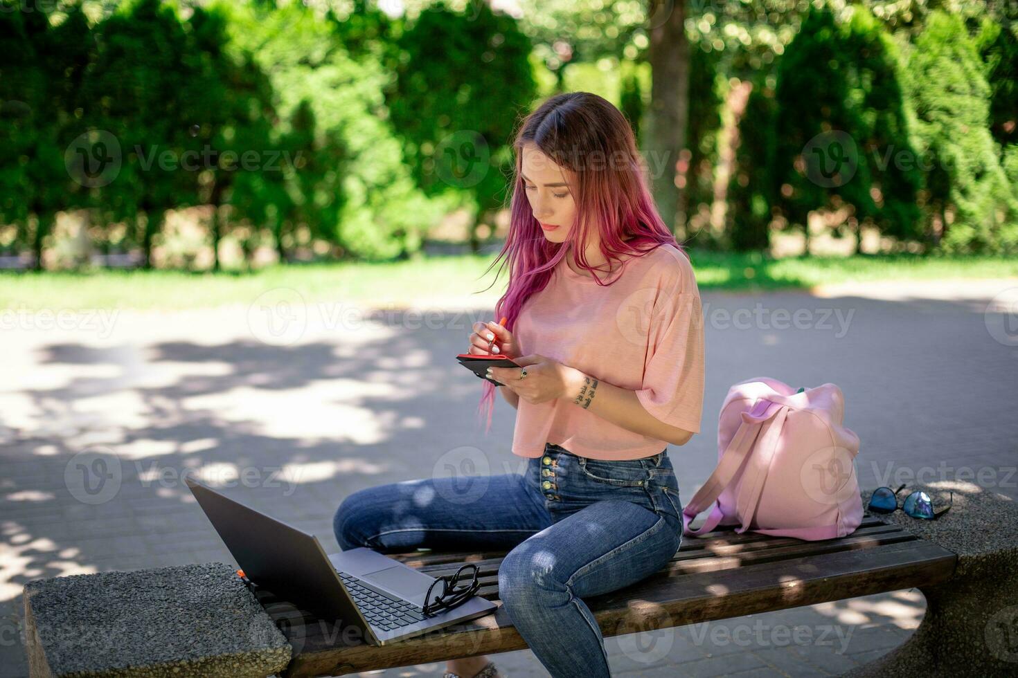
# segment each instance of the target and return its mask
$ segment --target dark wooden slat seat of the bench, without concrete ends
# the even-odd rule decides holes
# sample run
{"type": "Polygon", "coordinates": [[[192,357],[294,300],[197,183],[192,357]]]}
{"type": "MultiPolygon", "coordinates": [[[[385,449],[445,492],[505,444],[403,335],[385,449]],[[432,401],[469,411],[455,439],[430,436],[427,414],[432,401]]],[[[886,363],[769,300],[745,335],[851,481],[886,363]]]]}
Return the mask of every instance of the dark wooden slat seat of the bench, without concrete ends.
{"type": "MultiPolygon", "coordinates": [[[[505,553],[390,554],[434,576],[471,562],[478,595],[498,603],[505,553]]],[[[616,592],[584,599],[605,636],[837,601],[946,581],[954,553],[902,528],[868,517],[851,536],[803,542],[720,530],[687,538],[667,569],[616,592]]],[[[286,635],[293,658],[280,675],[342,675],[526,649],[505,611],[388,646],[344,646],[338,629],[271,593],[256,592],[286,635]]]]}

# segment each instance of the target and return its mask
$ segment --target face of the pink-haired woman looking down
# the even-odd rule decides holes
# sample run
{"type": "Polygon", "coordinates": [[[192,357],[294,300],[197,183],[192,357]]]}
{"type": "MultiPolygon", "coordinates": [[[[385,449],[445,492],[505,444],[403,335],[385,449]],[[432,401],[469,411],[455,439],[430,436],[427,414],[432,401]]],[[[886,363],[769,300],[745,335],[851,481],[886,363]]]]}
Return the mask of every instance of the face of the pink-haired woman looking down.
{"type": "Polygon", "coordinates": [[[521,174],[523,190],[545,238],[553,243],[565,242],[576,221],[571,187],[575,185],[575,173],[556,165],[536,145],[528,143],[523,146],[521,174]]]}

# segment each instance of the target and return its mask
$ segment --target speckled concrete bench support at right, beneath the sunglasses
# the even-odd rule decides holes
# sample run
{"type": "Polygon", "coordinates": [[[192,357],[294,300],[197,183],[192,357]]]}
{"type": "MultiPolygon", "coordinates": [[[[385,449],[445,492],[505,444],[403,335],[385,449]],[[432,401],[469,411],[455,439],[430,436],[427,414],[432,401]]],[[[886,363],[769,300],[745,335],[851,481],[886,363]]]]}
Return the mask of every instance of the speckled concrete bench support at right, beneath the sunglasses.
{"type": "MultiPolygon", "coordinates": [[[[919,585],[926,614],[901,646],[846,674],[879,676],[1018,675],[1018,501],[971,483],[910,484],[899,493],[921,489],[934,506],[950,511],[921,520],[895,511],[882,515],[916,536],[958,555],[951,579],[919,585]]],[[[863,506],[871,491],[862,496],[863,506]]]]}

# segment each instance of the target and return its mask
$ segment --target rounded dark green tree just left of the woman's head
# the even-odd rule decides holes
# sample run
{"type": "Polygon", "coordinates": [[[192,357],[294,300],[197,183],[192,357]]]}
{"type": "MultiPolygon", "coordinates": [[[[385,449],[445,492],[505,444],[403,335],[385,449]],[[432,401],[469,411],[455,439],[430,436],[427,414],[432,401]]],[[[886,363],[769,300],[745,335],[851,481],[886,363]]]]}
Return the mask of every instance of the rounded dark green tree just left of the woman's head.
{"type": "Polygon", "coordinates": [[[503,203],[510,137],[536,85],[530,42],[515,19],[486,4],[468,10],[439,2],[420,12],[397,43],[400,66],[386,94],[417,185],[474,203],[470,248],[477,251],[477,225],[503,203]]]}

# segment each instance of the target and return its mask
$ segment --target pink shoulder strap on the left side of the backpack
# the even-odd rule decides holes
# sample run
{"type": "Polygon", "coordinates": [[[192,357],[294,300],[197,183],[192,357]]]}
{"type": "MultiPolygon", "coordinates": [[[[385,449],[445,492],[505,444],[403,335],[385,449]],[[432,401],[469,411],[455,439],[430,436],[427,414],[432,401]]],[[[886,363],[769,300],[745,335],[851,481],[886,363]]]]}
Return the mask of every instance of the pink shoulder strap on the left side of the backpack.
{"type": "Polygon", "coordinates": [[[778,411],[781,409],[782,406],[777,403],[759,398],[751,410],[741,413],[742,423],[739,424],[739,429],[728,443],[725,453],[722,454],[721,459],[718,461],[718,467],[682,509],[683,535],[696,537],[704,535],[718,527],[718,523],[724,517],[721,506],[717,502],[718,497],[721,496],[721,493],[732,482],[735,474],[742,468],[749,450],[753,448],[753,443],[759,434],[764,422],[778,414],[778,411]],[[712,503],[714,506],[711,509],[711,514],[708,515],[703,525],[696,530],[691,530],[689,523],[712,503]]]}

